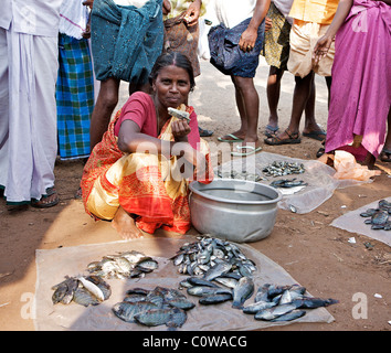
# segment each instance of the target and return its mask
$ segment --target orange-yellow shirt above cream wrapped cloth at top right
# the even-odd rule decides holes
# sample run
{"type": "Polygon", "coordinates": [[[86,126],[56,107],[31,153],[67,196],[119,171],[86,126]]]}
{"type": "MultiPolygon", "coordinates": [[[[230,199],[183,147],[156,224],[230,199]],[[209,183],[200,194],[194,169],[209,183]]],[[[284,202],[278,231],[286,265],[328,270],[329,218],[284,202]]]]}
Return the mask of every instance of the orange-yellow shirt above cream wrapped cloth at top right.
{"type": "Polygon", "coordinates": [[[289,17],[299,21],[330,24],[339,0],[294,0],[289,17]]]}

